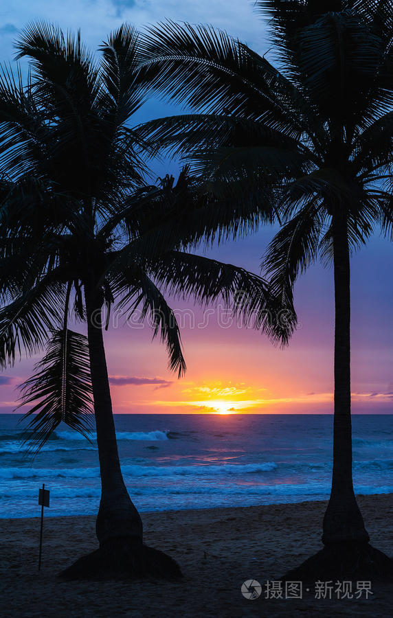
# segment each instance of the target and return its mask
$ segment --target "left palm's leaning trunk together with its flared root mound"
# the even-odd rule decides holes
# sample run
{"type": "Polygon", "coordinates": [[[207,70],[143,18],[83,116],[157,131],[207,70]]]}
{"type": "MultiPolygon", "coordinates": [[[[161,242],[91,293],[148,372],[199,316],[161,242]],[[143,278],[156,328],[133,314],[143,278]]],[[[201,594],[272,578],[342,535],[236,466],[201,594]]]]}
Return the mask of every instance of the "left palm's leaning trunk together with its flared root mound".
{"type": "Polygon", "coordinates": [[[85,302],[102,488],[96,521],[100,548],[79,558],[61,577],[65,580],[146,575],[181,577],[175,560],[159,549],[144,545],[142,520],[124,484],[102,337],[102,294],[93,278],[85,284],[85,302]]]}

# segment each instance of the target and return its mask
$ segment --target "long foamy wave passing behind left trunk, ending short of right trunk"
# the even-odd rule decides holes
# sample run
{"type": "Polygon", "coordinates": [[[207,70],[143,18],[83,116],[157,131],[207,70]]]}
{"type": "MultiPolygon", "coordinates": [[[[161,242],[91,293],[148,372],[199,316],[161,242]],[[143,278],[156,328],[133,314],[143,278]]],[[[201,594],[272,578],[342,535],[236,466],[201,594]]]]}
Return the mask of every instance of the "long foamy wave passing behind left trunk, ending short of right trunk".
{"type": "MultiPolygon", "coordinates": [[[[125,477],[172,477],[172,476],[210,476],[216,474],[256,474],[275,470],[277,464],[268,461],[262,464],[202,464],[199,466],[141,466],[128,464],[122,466],[125,477]]],[[[100,476],[100,468],[2,468],[0,479],[93,479],[100,476]]]]}

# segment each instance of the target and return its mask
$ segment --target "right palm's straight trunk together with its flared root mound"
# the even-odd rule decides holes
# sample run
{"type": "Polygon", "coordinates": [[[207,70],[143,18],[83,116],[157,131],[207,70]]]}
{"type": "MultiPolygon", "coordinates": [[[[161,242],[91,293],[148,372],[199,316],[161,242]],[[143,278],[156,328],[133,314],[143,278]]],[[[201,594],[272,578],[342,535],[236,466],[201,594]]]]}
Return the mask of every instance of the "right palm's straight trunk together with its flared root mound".
{"type": "Polygon", "coordinates": [[[350,419],[350,260],[345,216],[333,214],[335,415],[333,479],[324,516],[324,549],[284,575],[288,581],[391,578],[393,561],[370,545],[352,483],[350,419]]]}

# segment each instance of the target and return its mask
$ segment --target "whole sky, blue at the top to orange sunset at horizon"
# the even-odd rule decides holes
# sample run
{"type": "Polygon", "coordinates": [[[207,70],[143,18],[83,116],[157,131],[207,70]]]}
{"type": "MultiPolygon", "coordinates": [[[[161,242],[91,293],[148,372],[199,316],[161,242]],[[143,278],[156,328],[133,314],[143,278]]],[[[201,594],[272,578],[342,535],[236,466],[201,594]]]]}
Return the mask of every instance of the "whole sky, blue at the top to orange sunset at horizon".
{"type": "MultiPolygon", "coordinates": [[[[248,0],[4,1],[0,7],[0,59],[12,62],[13,41],[29,21],[81,29],[96,49],[123,21],[142,28],[164,19],[211,23],[238,36],[260,54],[269,53],[266,24],[248,0]]],[[[151,100],[135,124],[179,113],[151,100]]],[[[177,169],[168,163],[168,170],[177,169]]],[[[155,171],[155,170],[153,170],[155,171]]],[[[162,172],[162,170],[160,170],[162,172]]],[[[157,172],[158,173],[158,172],[157,172]]],[[[165,173],[165,172],[164,172],[165,173]]],[[[162,174],[161,174],[162,175],[162,174]]],[[[260,260],[276,229],[214,247],[210,257],[260,273],[260,260]]],[[[352,256],[352,409],[391,413],[393,403],[393,246],[377,233],[352,256]]],[[[295,288],[297,331],[284,350],[266,336],[234,322],[223,308],[203,312],[172,299],[182,325],[188,371],[177,379],[166,350],[152,341],[148,325],[116,319],[105,334],[115,413],[331,413],[333,411],[333,271],[312,266],[295,288]]],[[[0,412],[10,412],[17,385],[32,373],[33,359],[0,375],[0,412]]]]}

